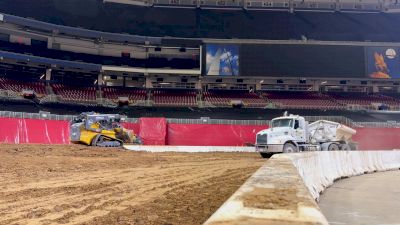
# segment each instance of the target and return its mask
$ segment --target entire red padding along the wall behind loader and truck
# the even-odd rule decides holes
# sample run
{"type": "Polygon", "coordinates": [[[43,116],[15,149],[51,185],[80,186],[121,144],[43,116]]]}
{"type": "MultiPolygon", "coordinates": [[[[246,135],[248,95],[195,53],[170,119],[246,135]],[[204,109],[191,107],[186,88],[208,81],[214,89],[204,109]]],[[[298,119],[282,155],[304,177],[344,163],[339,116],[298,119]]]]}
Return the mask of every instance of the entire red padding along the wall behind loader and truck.
{"type": "MultiPolygon", "coordinates": [[[[167,124],[165,118],[141,118],[125,123],[150,145],[244,146],[267,126],[167,124]]],[[[400,128],[356,128],[361,150],[400,149],[400,128]]],[[[68,144],[69,122],[0,118],[0,143],[68,144]]]]}

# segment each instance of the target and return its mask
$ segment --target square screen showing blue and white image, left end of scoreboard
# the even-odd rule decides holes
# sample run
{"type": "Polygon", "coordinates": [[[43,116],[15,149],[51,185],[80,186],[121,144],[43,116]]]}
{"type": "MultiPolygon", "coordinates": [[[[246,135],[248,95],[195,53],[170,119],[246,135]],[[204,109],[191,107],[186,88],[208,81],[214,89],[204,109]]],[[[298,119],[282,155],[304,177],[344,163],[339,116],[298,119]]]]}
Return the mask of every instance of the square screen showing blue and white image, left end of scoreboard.
{"type": "Polygon", "coordinates": [[[206,75],[239,75],[239,46],[208,44],[206,53],[206,75]]]}

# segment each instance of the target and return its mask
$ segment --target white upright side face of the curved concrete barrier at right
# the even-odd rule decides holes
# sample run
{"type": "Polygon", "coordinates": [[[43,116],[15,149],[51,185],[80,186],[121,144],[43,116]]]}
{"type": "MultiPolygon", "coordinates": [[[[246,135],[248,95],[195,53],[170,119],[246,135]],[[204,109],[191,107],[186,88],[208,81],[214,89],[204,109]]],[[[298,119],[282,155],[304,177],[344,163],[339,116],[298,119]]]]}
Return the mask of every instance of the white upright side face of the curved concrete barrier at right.
{"type": "Polygon", "coordinates": [[[312,197],[342,177],[400,168],[400,151],[335,151],[286,155],[312,197]]]}

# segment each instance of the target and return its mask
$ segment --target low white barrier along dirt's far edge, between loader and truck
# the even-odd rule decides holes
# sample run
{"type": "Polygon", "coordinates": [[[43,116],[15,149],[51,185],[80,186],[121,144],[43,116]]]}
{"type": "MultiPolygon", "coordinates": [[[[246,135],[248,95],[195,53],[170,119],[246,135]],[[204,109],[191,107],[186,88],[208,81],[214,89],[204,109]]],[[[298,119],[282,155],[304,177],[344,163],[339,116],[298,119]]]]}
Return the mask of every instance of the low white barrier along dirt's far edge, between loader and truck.
{"type": "Polygon", "coordinates": [[[255,152],[254,147],[240,146],[124,145],[124,148],[145,152],[255,152]]]}

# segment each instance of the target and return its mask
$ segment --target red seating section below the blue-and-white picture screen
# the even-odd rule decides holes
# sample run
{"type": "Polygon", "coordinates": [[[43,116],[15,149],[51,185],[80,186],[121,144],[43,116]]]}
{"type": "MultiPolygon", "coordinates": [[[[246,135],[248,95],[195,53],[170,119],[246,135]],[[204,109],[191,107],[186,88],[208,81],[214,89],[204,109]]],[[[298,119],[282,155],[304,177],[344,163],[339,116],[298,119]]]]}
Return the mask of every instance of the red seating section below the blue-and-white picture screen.
{"type": "Polygon", "coordinates": [[[256,93],[248,91],[208,91],[203,94],[204,100],[215,106],[231,106],[232,101],[242,101],[245,107],[259,108],[267,106],[267,102],[256,93]]]}

